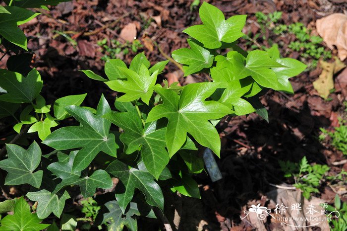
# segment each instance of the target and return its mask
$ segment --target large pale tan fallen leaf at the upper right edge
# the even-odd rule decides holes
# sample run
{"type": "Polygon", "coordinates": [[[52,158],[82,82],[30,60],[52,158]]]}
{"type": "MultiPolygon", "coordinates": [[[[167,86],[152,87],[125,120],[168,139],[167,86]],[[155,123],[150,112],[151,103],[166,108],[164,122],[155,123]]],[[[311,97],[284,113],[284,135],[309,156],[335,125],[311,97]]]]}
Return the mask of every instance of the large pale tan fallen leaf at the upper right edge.
{"type": "Polygon", "coordinates": [[[316,21],[318,34],[330,49],[338,48],[339,58],[347,58],[347,15],[333,13],[316,21]]]}

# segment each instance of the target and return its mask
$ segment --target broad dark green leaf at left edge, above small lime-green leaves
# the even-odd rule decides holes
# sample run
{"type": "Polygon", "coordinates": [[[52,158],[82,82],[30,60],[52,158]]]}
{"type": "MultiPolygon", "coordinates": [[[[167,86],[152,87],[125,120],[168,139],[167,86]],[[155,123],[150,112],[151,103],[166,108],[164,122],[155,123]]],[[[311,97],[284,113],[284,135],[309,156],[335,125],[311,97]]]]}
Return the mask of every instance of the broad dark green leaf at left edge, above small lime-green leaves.
{"type": "Polygon", "coordinates": [[[0,69],[0,87],[7,91],[0,95],[0,101],[31,103],[39,95],[42,85],[43,81],[36,69],[29,72],[27,77],[0,69]]]}

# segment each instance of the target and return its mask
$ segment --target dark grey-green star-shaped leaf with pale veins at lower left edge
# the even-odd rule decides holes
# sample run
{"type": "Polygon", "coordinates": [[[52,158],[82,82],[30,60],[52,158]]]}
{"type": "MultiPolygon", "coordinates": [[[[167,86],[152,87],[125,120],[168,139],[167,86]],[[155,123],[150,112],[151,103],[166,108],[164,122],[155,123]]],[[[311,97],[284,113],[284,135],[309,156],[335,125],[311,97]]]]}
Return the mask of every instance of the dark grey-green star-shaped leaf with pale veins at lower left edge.
{"type": "Polygon", "coordinates": [[[34,141],[25,150],[18,145],[6,144],[8,158],[0,161],[0,168],[7,171],[7,185],[30,184],[39,188],[42,181],[42,170],[34,170],[41,161],[41,149],[34,141]]]}

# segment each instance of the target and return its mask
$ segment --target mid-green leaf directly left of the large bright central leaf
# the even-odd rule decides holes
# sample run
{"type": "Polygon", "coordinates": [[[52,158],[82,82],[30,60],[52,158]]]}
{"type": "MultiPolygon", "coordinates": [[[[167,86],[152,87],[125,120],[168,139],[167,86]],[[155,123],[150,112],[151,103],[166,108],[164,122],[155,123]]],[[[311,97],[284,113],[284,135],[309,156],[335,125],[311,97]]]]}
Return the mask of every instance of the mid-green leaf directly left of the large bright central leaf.
{"type": "Polygon", "coordinates": [[[135,107],[131,111],[111,113],[104,116],[125,132],[120,140],[126,146],[125,154],[131,154],[141,146],[142,160],[148,171],[158,179],[164,167],[169,163],[166,151],[166,128],[156,130],[156,122],[143,125],[135,107]]]}

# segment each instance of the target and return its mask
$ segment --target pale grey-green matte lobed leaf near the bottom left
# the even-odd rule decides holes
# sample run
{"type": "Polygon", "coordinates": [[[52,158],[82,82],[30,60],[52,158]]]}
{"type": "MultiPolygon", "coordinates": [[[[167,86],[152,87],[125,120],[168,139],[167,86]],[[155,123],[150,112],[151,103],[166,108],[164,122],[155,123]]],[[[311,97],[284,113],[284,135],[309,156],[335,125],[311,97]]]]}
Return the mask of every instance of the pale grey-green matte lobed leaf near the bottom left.
{"type": "Polygon", "coordinates": [[[57,194],[51,193],[46,189],[37,192],[28,192],[26,196],[30,200],[38,202],[36,214],[40,219],[47,218],[51,213],[59,218],[64,209],[65,201],[70,198],[70,195],[66,191],[59,198],[57,194]]]}

